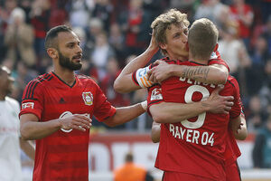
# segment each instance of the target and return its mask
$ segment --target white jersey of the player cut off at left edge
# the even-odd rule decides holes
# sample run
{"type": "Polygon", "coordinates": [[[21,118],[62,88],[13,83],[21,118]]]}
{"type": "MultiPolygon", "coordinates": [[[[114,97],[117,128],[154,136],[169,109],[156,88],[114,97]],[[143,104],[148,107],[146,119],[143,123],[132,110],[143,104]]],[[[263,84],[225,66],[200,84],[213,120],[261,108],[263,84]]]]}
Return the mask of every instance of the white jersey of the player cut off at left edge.
{"type": "Polygon", "coordinates": [[[0,100],[0,180],[21,181],[18,115],[20,105],[17,100],[5,97],[0,100]]]}

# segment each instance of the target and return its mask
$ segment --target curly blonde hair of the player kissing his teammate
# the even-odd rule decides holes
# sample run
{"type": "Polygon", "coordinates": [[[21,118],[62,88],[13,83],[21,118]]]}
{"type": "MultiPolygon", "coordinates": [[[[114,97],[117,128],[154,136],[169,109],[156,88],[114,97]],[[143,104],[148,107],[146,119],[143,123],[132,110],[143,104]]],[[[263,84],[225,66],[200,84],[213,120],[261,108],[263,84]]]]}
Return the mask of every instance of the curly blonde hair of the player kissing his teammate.
{"type": "MultiPolygon", "coordinates": [[[[156,43],[166,43],[165,31],[170,28],[171,24],[185,24],[186,26],[189,26],[190,23],[187,20],[187,15],[182,14],[177,9],[170,9],[168,12],[160,14],[151,24],[156,43]]],[[[164,55],[167,54],[163,49],[162,53],[164,55]]]]}

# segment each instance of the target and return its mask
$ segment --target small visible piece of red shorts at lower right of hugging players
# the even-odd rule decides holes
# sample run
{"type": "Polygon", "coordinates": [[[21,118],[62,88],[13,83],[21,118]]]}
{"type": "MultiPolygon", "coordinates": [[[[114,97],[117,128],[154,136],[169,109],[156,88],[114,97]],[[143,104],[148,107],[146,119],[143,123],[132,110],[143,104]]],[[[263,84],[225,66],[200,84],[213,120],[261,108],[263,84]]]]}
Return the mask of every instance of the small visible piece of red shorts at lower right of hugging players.
{"type": "Polygon", "coordinates": [[[240,181],[240,170],[237,162],[233,162],[231,165],[225,167],[226,180],[227,181],[240,181]]]}

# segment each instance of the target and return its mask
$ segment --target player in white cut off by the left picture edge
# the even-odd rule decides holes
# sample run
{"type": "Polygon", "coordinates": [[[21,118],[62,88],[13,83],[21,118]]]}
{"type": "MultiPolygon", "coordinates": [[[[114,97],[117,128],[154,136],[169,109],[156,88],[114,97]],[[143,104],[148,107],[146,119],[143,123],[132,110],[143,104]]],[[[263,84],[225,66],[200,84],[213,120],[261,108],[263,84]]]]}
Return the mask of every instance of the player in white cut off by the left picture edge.
{"type": "Polygon", "coordinates": [[[34,159],[35,150],[29,141],[20,137],[18,114],[20,104],[7,95],[12,91],[11,71],[0,67],[0,180],[23,180],[20,147],[34,159]]]}

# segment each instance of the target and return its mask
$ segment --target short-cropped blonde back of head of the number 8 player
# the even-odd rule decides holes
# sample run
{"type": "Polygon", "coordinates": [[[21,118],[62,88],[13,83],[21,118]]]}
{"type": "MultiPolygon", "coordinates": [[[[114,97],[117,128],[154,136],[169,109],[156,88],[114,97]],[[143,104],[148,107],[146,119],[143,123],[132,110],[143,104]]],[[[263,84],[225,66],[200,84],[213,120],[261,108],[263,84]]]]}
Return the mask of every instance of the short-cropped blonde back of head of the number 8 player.
{"type": "Polygon", "coordinates": [[[207,18],[196,20],[188,33],[189,51],[193,58],[209,59],[218,43],[219,31],[207,18]]]}

